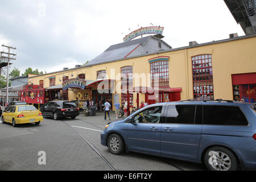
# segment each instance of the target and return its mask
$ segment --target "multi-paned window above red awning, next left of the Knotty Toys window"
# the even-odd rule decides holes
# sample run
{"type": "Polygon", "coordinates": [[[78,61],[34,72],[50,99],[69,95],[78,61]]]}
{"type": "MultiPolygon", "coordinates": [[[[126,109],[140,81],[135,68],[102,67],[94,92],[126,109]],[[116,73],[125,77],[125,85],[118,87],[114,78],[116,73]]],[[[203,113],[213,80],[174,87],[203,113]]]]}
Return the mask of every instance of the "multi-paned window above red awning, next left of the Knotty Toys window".
{"type": "Polygon", "coordinates": [[[168,61],[157,61],[150,64],[151,86],[169,86],[168,61]]]}

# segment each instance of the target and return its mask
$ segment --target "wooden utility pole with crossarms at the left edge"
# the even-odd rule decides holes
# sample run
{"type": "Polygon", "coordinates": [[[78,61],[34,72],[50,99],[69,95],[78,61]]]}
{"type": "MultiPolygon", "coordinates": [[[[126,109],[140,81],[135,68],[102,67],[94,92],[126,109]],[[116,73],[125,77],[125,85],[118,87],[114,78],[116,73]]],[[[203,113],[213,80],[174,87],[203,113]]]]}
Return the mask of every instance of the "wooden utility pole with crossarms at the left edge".
{"type": "Polygon", "coordinates": [[[8,48],[8,52],[1,52],[1,58],[8,60],[7,61],[7,76],[6,76],[6,104],[9,104],[9,98],[8,98],[8,94],[9,94],[9,65],[10,65],[10,60],[16,60],[14,58],[16,56],[16,54],[10,53],[10,49],[16,49],[16,48],[11,47],[11,46],[5,46],[5,45],[2,45],[2,47],[8,48]],[[10,57],[10,56],[13,56],[13,57],[10,57]]]}

